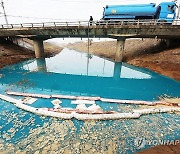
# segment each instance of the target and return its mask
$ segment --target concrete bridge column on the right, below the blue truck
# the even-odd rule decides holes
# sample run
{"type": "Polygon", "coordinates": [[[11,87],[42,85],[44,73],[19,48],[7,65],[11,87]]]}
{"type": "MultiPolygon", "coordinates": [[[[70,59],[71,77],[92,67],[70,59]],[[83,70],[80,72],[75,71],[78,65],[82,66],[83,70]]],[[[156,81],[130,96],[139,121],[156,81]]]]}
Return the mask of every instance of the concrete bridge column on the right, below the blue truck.
{"type": "Polygon", "coordinates": [[[123,60],[125,40],[126,40],[125,38],[117,39],[116,54],[115,54],[116,62],[122,62],[123,60]]]}

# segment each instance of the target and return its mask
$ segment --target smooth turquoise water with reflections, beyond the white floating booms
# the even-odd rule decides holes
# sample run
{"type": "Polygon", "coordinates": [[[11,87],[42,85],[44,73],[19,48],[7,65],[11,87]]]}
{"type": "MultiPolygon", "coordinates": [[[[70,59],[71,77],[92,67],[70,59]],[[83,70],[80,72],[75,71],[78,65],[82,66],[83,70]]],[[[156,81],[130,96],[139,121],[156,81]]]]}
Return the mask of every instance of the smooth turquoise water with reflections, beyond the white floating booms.
{"type": "Polygon", "coordinates": [[[138,100],[153,100],[163,94],[179,95],[177,82],[156,73],[96,56],[90,59],[85,53],[67,49],[55,57],[27,61],[2,72],[5,74],[0,79],[2,84],[34,92],[40,89],[138,100]]]}

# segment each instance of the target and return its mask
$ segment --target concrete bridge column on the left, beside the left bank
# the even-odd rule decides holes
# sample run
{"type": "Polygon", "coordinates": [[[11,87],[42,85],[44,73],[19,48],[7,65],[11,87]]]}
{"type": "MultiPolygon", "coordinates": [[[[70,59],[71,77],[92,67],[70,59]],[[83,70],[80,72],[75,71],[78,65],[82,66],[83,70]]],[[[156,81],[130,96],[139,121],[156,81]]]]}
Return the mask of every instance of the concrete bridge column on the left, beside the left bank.
{"type": "Polygon", "coordinates": [[[43,58],[44,57],[44,45],[43,40],[33,40],[34,44],[34,51],[36,58],[43,58]]]}

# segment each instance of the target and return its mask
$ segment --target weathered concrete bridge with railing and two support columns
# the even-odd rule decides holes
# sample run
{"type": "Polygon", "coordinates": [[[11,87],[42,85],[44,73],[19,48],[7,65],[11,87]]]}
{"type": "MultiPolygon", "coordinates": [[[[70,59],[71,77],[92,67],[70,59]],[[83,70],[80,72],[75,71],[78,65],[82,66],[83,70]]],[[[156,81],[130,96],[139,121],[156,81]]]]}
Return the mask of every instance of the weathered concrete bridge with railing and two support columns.
{"type": "MultiPolygon", "coordinates": [[[[174,21],[177,23],[179,21],[174,21]]],[[[47,22],[0,25],[1,38],[28,38],[34,42],[36,58],[44,56],[43,41],[51,38],[114,38],[117,40],[115,61],[122,61],[127,38],[180,39],[180,25],[155,20],[47,22]]]]}

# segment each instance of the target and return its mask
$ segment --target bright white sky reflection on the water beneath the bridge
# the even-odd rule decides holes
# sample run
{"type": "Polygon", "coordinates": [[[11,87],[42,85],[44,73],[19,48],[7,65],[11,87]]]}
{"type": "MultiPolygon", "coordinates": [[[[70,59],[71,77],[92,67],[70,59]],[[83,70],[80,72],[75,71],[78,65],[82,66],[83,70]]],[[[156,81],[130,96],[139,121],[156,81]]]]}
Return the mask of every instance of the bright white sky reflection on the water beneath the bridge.
{"type": "MultiPolygon", "coordinates": [[[[46,67],[48,72],[62,74],[113,77],[114,70],[116,70],[115,67],[117,67],[117,65],[121,64],[93,55],[88,57],[86,53],[79,53],[68,49],[64,49],[55,57],[46,58],[46,67]]],[[[36,71],[37,62],[25,62],[22,67],[24,70],[36,71]]],[[[148,71],[143,72],[143,70],[127,64],[122,64],[121,67],[121,78],[151,78],[151,73],[148,71]]]]}

